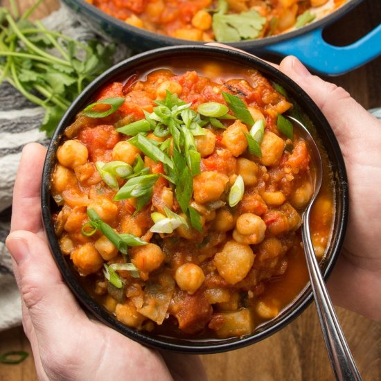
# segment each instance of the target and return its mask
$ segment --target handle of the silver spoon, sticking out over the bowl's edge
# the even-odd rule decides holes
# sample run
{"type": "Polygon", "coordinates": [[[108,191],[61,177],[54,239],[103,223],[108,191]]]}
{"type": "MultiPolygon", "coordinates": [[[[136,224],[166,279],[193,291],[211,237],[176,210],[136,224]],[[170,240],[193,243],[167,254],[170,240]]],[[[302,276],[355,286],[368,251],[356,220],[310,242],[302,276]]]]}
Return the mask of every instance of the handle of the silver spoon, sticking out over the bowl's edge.
{"type": "Polygon", "coordinates": [[[340,381],[360,381],[362,380],[353,360],[351,351],[346,343],[346,339],[339,325],[335,310],[333,309],[330,296],[328,295],[323,276],[314,254],[310,236],[310,209],[303,213],[302,239],[305,248],[308,272],[314,300],[316,303],[317,314],[323,332],[324,342],[330,358],[330,364],[333,368],[336,380],[340,381]]]}

